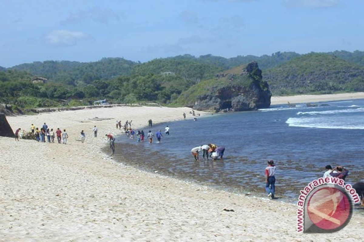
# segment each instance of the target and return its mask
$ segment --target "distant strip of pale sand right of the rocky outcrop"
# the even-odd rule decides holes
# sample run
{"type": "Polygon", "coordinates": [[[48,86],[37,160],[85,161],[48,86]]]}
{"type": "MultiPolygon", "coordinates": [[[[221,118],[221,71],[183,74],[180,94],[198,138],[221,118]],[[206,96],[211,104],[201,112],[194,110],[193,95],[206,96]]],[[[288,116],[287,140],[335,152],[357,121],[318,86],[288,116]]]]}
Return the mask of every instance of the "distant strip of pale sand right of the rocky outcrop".
{"type": "Polygon", "coordinates": [[[323,95],[294,95],[294,96],[273,96],[271,104],[287,104],[290,103],[312,103],[327,102],[351,99],[363,99],[364,93],[340,93],[340,94],[323,94],[323,95]]]}

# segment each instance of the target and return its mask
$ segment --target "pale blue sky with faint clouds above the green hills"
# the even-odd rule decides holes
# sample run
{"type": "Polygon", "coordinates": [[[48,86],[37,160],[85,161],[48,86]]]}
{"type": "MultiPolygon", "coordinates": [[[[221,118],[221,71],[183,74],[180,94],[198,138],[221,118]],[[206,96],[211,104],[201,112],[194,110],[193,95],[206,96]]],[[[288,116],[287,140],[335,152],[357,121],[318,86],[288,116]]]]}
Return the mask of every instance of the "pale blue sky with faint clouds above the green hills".
{"type": "Polygon", "coordinates": [[[0,0],[0,66],[363,50],[363,0],[0,0]]]}

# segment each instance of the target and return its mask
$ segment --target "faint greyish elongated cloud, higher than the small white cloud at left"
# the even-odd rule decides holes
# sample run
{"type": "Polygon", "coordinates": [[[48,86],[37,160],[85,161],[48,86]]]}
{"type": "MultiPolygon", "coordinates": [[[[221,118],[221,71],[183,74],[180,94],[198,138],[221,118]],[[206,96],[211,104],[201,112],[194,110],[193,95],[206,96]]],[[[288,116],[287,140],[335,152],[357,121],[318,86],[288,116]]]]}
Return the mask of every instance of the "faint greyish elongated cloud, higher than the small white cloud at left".
{"type": "MultiPolygon", "coordinates": [[[[123,16],[123,15],[122,15],[123,16]]],[[[120,20],[120,14],[112,9],[94,7],[86,11],[79,11],[70,13],[66,20],[62,21],[62,24],[78,24],[85,20],[92,20],[100,24],[108,24],[111,20],[120,20]]]]}

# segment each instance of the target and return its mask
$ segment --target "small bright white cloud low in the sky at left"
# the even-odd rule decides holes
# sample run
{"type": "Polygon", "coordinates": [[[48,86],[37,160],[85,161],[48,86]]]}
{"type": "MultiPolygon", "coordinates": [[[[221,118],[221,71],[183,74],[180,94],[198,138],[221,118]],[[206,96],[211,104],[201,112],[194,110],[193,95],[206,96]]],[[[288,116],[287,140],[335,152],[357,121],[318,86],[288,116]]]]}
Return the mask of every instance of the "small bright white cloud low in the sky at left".
{"type": "Polygon", "coordinates": [[[76,45],[79,40],[89,38],[88,34],[78,31],[53,30],[46,36],[48,44],[53,46],[72,46],[76,45]]]}

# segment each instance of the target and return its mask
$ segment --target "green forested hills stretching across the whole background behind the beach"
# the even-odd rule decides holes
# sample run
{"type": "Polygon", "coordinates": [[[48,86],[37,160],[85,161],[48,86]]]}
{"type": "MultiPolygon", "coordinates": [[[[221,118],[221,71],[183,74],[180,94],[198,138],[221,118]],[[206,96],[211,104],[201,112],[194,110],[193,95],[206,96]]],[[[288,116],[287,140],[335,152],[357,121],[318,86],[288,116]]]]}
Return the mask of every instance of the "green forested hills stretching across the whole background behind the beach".
{"type": "Polygon", "coordinates": [[[183,105],[210,86],[219,85],[217,73],[251,61],[258,62],[274,95],[364,91],[364,52],[277,52],[260,57],[183,55],[146,63],[103,58],[88,63],[44,61],[0,67],[0,102],[27,108],[56,106],[60,99],[79,105],[106,98],[114,103],[158,101],[183,105]],[[163,77],[161,72],[165,71],[175,75],[163,77]],[[49,81],[32,83],[35,77],[49,81]]]}

